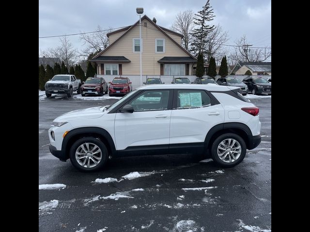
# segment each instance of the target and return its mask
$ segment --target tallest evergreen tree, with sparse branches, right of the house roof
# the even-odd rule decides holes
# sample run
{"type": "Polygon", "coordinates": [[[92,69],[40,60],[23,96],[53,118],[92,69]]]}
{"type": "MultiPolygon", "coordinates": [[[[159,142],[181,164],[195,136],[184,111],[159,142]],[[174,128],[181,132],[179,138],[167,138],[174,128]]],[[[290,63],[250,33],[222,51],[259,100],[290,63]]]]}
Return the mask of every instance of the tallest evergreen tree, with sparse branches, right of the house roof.
{"type": "Polygon", "coordinates": [[[195,56],[199,53],[202,53],[202,56],[205,55],[205,45],[207,43],[207,35],[215,29],[215,26],[208,25],[209,21],[212,21],[215,15],[213,15],[213,9],[210,6],[210,0],[207,0],[205,6],[202,7],[202,10],[195,14],[194,24],[197,26],[196,29],[191,33],[193,37],[193,42],[191,45],[191,52],[195,56]]]}

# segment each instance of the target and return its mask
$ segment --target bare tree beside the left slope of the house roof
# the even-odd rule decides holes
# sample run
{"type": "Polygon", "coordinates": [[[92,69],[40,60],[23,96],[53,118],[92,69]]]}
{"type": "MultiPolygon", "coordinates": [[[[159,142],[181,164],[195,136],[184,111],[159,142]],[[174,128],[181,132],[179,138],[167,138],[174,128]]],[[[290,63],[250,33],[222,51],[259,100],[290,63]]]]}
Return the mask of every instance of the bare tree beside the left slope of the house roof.
{"type": "Polygon", "coordinates": [[[112,29],[102,29],[99,25],[97,26],[96,32],[91,34],[83,34],[80,39],[84,42],[85,49],[82,50],[81,56],[88,57],[89,54],[96,54],[109,45],[109,39],[107,34],[112,32],[112,29]]]}

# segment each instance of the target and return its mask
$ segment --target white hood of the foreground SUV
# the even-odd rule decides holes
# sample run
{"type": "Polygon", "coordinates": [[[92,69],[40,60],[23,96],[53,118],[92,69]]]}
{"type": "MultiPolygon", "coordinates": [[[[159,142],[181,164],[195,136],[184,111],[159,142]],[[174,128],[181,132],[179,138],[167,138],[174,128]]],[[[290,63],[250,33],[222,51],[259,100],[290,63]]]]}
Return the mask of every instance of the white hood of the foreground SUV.
{"type": "Polygon", "coordinates": [[[78,120],[78,119],[98,118],[106,114],[106,112],[102,112],[102,110],[103,110],[102,106],[81,109],[81,110],[74,110],[74,111],[65,113],[57,117],[54,121],[55,122],[68,122],[71,120],[78,120]]]}

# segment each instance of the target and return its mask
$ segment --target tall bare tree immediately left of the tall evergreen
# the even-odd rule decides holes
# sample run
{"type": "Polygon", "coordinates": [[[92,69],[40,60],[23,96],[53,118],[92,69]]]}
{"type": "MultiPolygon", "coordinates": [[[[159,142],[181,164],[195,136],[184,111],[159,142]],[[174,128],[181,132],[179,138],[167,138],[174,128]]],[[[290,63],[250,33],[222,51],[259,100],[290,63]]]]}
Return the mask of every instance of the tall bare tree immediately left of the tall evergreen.
{"type": "Polygon", "coordinates": [[[191,32],[194,29],[194,12],[186,10],[179,12],[171,25],[171,29],[184,35],[182,46],[188,50],[192,42],[191,32]]]}

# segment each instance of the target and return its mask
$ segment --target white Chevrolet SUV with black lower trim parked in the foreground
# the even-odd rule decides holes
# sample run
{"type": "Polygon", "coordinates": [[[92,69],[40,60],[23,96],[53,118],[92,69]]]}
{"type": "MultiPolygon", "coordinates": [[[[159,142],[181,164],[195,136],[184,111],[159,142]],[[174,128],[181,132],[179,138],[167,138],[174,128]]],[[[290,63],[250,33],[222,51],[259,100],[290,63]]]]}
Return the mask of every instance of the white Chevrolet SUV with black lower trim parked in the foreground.
{"type": "Polygon", "coordinates": [[[240,163],[261,142],[259,108],[238,87],[147,85],[111,106],[57,117],[50,152],[81,171],[102,168],[109,157],[200,153],[220,166],[240,163]]]}

